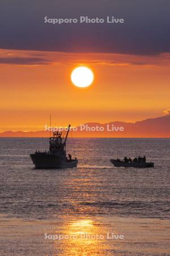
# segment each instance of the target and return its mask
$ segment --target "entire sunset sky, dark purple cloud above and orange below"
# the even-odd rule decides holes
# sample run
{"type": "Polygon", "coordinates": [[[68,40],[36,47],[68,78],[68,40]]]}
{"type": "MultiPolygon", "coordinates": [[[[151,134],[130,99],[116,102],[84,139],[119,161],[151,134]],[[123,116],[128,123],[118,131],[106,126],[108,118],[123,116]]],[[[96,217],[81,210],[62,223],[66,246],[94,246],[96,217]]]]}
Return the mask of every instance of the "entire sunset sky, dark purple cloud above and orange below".
{"type": "Polygon", "coordinates": [[[0,3],[0,131],[138,120],[169,109],[169,1],[0,3]],[[49,24],[49,18],[124,18],[121,24],[49,24]],[[79,65],[95,80],[77,88],[79,65]]]}

